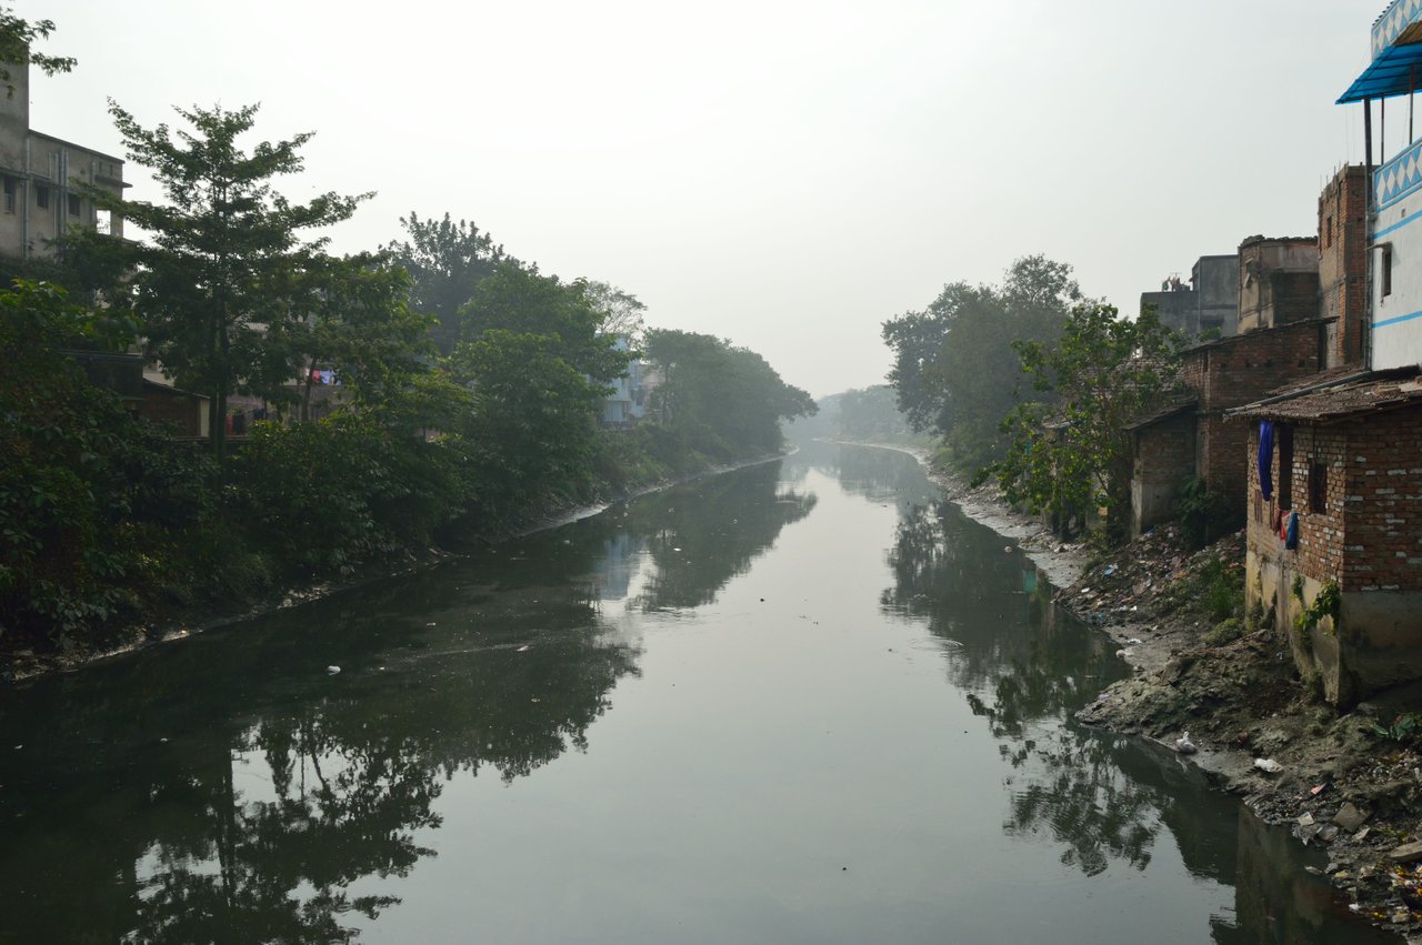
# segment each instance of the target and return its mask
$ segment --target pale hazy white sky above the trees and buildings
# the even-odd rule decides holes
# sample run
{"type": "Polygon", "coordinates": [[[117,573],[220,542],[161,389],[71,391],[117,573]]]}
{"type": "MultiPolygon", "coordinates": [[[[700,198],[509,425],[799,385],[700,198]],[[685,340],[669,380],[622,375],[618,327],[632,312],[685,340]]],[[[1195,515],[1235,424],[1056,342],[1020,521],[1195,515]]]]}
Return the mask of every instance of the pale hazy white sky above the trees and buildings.
{"type": "MultiPolygon", "coordinates": [[[[447,210],[648,323],[731,338],[816,396],[882,381],[883,320],[1018,256],[1135,313],[1253,233],[1317,232],[1362,159],[1384,0],[60,0],[31,124],[121,153],[112,97],[260,102],[316,131],[294,199],[375,190],[341,252],[447,210]]],[[[1395,107],[1389,138],[1406,134],[1395,107]]],[[[1389,145],[1391,151],[1391,145],[1389,145]]],[[[132,196],[156,198],[129,165],[132,196]]]]}

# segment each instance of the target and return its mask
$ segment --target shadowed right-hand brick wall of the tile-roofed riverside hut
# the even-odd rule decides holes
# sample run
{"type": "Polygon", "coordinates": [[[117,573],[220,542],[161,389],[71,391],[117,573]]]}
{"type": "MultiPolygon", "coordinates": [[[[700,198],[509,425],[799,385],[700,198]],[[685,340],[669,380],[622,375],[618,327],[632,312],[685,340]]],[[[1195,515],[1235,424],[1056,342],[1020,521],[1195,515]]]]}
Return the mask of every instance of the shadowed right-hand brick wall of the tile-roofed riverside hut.
{"type": "Polygon", "coordinates": [[[1345,425],[1344,590],[1422,590],[1422,406],[1345,425]]]}

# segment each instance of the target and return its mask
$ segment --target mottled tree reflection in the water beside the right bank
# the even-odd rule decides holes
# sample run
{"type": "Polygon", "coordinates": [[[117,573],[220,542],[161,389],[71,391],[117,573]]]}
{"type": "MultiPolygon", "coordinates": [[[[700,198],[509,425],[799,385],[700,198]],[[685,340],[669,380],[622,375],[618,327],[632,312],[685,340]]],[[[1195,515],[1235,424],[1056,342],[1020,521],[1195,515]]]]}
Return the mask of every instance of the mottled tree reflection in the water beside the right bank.
{"type": "Polygon", "coordinates": [[[951,641],[946,661],[1012,769],[1004,830],[1047,833],[1086,875],[1112,860],[1145,868],[1169,799],[1121,769],[1111,739],[1064,723],[1122,669],[1105,639],[1059,615],[1051,587],[1020,551],[951,506],[913,509],[899,526],[883,593],[890,612],[926,618],[951,641]],[[1004,568],[1014,556],[1020,568],[1004,568]],[[1003,601],[1020,601],[1011,611],[1003,601]]]}

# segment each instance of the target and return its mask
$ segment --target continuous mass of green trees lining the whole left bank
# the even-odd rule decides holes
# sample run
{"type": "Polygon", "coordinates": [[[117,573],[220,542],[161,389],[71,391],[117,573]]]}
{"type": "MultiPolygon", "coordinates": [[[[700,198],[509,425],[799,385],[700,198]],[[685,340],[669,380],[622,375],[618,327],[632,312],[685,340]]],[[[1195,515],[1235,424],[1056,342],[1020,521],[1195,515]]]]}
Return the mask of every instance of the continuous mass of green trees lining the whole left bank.
{"type": "Polygon", "coordinates": [[[0,291],[0,652],[85,649],[445,530],[508,533],[775,452],[779,422],[815,411],[755,352],[646,331],[634,296],[545,274],[448,213],[331,254],[321,232],[368,195],[283,198],[310,135],[245,148],[256,107],[178,109],[178,128],[111,112],[162,199],[87,196],[148,239],[74,232],[0,291]],[[603,429],[638,345],[663,378],[651,419],[603,429]],[[70,354],[134,347],[208,398],[208,443],[125,411],[70,354]],[[317,371],[341,405],[311,419],[317,371]],[[239,449],[230,396],[267,405],[239,449]]]}

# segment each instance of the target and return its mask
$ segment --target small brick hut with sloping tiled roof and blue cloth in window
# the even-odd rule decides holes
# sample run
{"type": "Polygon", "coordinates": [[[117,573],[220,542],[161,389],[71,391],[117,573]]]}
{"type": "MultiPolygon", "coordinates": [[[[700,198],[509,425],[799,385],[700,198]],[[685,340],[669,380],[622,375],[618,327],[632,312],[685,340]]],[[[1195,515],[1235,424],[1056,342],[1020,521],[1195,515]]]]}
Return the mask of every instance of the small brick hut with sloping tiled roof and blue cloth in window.
{"type": "Polygon", "coordinates": [[[1334,703],[1422,678],[1416,368],[1334,368],[1233,414],[1249,421],[1239,423],[1251,458],[1249,608],[1290,631],[1300,671],[1317,674],[1334,703]],[[1273,448],[1260,458],[1266,435],[1273,448]],[[1280,536],[1291,516],[1294,543],[1280,536]],[[1325,587],[1337,590],[1337,612],[1300,630],[1325,587]]]}

